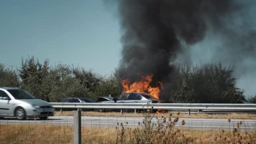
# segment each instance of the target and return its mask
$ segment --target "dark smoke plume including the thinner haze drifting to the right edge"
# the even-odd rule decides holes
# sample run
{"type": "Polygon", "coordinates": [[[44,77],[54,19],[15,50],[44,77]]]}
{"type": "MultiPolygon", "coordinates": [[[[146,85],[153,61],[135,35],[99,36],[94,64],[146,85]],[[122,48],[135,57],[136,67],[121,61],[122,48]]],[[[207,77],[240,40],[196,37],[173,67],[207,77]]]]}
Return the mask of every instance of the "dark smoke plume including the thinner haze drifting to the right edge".
{"type": "MultiPolygon", "coordinates": [[[[168,99],[177,85],[174,64],[192,64],[192,48],[204,42],[209,33],[221,42],[209,46],[216,53],[210,51],[213,56],[207,62],[223,60],[225,65],[236,66],[241,59],[255,57],[255,30],[246,27],[248,22],[237,22],[246,6],[235,0],[118,1],[123,32],[118,78],[134,82],[153,74],[151,85],[163,82],[160,97],[168,99]]],[[[204,57],[207,45],[199,50],[205,53],[196,56],[204,57]]]]}

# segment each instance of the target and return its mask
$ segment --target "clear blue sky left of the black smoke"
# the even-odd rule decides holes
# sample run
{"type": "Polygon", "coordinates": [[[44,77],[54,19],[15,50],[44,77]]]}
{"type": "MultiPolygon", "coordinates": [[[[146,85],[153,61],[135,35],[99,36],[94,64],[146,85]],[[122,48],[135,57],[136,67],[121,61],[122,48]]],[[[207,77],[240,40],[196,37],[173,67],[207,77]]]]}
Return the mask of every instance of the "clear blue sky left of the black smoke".
{"type": "Polygon", "coordinates": [[[0,1],[0,63],[34,56],[111,74],[121,59],[120,26],[102,0],[0,1]]]}

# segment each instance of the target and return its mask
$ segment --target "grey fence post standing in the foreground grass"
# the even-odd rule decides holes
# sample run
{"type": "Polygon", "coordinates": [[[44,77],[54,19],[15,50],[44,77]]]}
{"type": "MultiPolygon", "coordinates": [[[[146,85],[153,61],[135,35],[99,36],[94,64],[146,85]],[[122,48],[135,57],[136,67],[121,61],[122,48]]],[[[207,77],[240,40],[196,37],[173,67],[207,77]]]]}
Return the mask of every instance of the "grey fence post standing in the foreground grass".
{"type": "Polygon", "coordinates": [[[81,144],[81,111],[74,111],[74,144],[81,144]]]}

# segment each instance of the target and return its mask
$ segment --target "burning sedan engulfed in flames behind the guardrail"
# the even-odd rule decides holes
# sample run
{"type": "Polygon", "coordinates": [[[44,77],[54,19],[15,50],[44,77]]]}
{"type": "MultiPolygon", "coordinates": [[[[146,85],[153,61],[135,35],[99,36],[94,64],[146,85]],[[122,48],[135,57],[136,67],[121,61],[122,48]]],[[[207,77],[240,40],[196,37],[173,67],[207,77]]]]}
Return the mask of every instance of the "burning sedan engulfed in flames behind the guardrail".
{"type": "MultiPolygon", "coordinates": [[[[100,103],[158,103],[160,102],[159,99],[154,98],[152,95],[142,93],[142,92],[129,92],[129,93],[122,93],[116,96],[109,101],[100,101],[100,103]]],[[[97,111],[106,111],[106,109],[97,109],[97,111]]],[[[116,111],[116,110],[107,110],[107,111],[116,111]]],[[[131,111],[131,110],[129,110],[131,111]]]]}

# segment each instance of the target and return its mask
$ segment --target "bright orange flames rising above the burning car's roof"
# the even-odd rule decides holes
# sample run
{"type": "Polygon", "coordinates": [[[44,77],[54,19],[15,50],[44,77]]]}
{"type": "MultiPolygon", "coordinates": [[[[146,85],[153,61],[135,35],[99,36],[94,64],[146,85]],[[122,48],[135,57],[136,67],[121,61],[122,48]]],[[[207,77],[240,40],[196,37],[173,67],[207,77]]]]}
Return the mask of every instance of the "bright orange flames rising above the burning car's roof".
{"type": "Polygon", "coordinates": [[[158,99],[161,89],[163,89],[162,83],[158,82],[159,86],[156,87],[149,86],[149,83],[152,81],[152,77],[153,75],[149,75],[146,77],[143,76],[141,77],[140,81],[136,81],[131,85],[128,79],[122,80],[121,83],[124,88],[123,92],[147,92],[158,99]]]}

